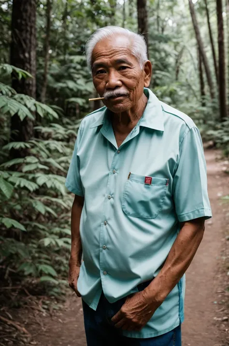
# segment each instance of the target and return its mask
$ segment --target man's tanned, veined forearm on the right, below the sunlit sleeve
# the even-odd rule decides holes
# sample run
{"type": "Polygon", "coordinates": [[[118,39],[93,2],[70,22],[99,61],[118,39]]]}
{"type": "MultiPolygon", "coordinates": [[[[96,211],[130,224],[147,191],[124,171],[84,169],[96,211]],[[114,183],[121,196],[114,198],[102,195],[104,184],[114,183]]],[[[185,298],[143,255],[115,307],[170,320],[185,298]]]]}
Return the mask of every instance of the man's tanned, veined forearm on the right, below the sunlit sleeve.
{"type": "Polygon", "coordinates": [[[144,290],[148,300],[155,299],[160,305],[189,267],[204,233],[204,219],[187,221],[183,224],[164,266],[156,278],[144,290]]]}

